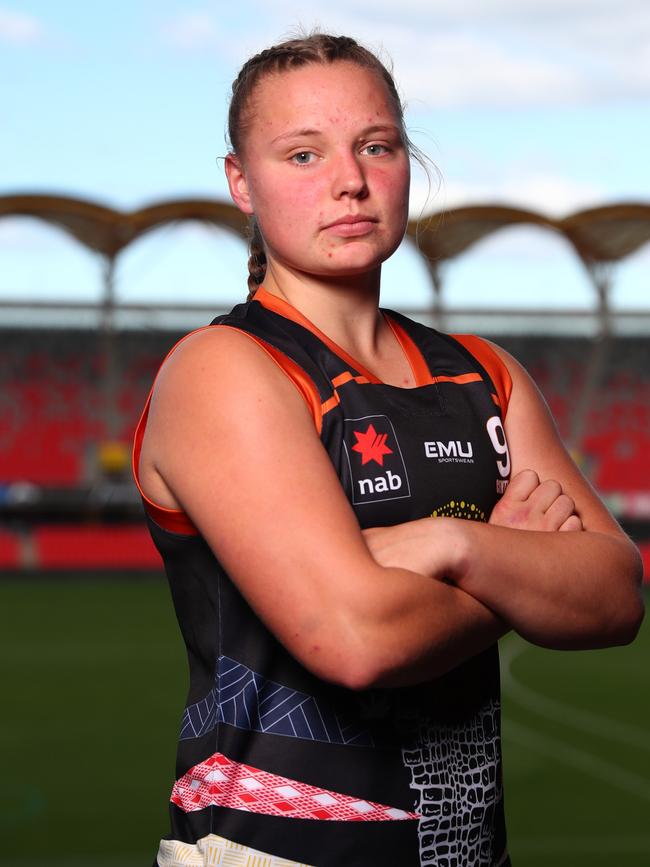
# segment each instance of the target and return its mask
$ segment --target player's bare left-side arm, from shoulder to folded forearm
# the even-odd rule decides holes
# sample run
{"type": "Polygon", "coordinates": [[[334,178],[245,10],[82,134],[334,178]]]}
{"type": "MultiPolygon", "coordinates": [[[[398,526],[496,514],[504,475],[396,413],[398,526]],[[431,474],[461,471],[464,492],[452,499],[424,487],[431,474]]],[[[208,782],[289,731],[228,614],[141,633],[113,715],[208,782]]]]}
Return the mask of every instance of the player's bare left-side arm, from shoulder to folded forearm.
{"type": "MultiPolygon", "coordinates": [[[[375,562],[304,400],[245,334],[207,329],[166,362],[140,481],[189,515],[268,628],[327,680],[420,682],[506,631],[462,589],[375,562]]],[[[429,571],[454,573],[461,554],[450,537],[429,571]]]]}

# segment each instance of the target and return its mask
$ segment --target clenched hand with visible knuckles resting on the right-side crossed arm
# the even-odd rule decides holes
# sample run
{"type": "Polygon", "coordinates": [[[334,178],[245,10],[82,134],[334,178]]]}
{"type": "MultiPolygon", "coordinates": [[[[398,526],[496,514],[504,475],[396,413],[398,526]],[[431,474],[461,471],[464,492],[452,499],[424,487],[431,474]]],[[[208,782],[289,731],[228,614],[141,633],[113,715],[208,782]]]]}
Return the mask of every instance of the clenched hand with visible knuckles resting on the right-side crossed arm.
{"type": "Polygon", "coordinates": [[[535,470],[521,470],[490,515],[489,524],[514,530],[582,530],[574,500],[554,479],[540,482],[535,470]]]}

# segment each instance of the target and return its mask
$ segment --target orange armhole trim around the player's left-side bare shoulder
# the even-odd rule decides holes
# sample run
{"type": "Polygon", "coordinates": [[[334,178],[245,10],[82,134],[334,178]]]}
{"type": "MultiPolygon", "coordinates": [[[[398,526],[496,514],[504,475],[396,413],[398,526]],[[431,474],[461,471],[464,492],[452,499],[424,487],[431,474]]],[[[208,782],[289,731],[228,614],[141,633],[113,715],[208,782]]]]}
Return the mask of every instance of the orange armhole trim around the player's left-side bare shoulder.
{"type": "Polygon", "coordinates": [[[260,349],[262,349],[269,356],[269,358],[272,359],[272,361],[280,368],[284,375],[296,387],[299,394],[302,396],[303,400],[307,404],[307,409],[309,410],[314,420],[314,426],[319,436],[323,426],[323,409],[321,405],[320,395],[313,380],[298,364],[296,364],[295,361],[286,356],[284,353],[280,352],[280,350],[276,349],[274,346],[271,346],[270,344],[261,340],[259,337],[255,337],[254,335],[249,334],[246,331],[242,331],[241,329],[235,328],[234,326],[230,325],[206,325],[203,328],[198,328],[195,331],[191,331],[189,334],[186,334],[184,337],[182,337],[178,341],[178,343],[175,343],[174,346],[172,346],[172,348],[163,359],[162,364],[158,368],[158,373],[156,374],[156,377],[153,381],[153,385],[151,386],[151,389],[149,391],[149,395],[147,396],[147,401],[144,405],[144,409],[142,410],[142,415],[140,416],[140,420],[138,421],[138,425],[135,429],[131,468],[133,472],[133,478],[135,479],[136,487],[140,492],[145,511],[149,515],[149,517],[156,524],[158,524],[159,527],[162,527],[163,530],[168,530],[171,533],[186,536],[198,535],[198,530],[194,526],[188,515],[182,509],[169,509],[165,506],[159,505],[158,503],[150,499],[142,489],[139,473],[140,454],[142,452],[142,442],[144,440],[144,433],[147,428],[147,420],[149,418],[151,397],[153,395],[154,388],[156,387],[156,381],[158,379],[160,371],[163,368],[163,365],[181,345],[181,343],[187,340],[188,337],[191,337],[193,334],[197,334],[199,331],[205,331],[207,328],[230,328],[233,331],[244,334],[246,337],[256,343],[260,347],[260,349]]]}

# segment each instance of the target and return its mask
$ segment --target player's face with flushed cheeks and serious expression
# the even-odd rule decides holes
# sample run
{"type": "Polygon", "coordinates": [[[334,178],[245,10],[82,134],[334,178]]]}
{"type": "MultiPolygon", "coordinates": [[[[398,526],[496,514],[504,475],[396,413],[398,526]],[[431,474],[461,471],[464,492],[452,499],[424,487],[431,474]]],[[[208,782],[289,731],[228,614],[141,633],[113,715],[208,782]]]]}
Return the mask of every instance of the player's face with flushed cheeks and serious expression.
{"type": "Polygon", "coordinates": [[[372,70],[339,61],[266,76],[248,106],[243,152],[226,165],[267,257],[292,271],[362,274],[404,236],[409,156],[372,70]]]}

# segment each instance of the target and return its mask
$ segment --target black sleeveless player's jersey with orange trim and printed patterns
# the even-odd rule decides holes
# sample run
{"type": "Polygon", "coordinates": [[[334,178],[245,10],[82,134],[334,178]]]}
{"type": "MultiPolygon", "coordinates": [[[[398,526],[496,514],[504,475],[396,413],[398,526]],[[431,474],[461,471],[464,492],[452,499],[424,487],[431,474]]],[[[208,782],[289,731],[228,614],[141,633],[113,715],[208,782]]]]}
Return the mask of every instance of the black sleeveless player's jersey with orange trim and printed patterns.
{"type": "MultiPolygon", "coordinates": [[[[479,338],[383,313],[415,388],[380,382],[264,289],[208,327],[248,334],[295,384],[362,528],[486,521],[510,473],[508,372],[479,338]]],[[[496,646],[418,686],[326,683],[259,620],[189,518],[143,500],[190,663],[159,867],[509,863],[496,646]]]]}

